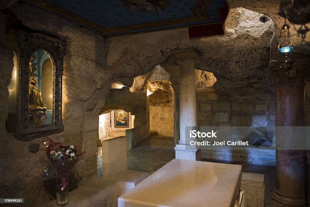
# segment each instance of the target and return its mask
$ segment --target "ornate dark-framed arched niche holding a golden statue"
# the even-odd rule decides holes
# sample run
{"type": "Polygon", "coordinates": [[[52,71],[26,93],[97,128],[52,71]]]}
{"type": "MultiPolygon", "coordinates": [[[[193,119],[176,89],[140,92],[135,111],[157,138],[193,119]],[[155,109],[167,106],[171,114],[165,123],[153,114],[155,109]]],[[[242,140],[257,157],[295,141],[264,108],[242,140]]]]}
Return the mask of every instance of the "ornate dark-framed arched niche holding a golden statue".
{"type": "Polygon", "coordinates": [[[6,46],[14,53],[7,131],[28,134],[64,128],[65,44],[43,34],[12,29],[6,34],[6,46]]]}

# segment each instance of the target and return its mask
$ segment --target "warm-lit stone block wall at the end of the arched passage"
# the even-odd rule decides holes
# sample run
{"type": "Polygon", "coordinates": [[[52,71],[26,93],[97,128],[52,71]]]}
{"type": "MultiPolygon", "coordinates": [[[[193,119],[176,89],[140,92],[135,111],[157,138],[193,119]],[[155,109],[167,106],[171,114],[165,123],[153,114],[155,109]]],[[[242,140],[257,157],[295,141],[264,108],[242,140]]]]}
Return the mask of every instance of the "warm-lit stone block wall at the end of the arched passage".
{"type": "Polygon", "coordinates": [[[150,130],[159,135],[173,136],[173,110],[171,107],[150,106],[150,130]]]}

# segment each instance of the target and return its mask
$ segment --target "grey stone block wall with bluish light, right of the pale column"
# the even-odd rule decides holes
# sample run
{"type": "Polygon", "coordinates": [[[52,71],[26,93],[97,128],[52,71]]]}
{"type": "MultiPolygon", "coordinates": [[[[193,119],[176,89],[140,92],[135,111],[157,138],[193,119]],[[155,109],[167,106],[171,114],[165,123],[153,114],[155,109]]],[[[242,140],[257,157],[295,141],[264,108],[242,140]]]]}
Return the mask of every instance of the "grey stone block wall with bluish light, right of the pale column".
{"type": "MultiPolygon", "coordinates": [[[[274,92],[198,90],[198,126],[275,126],[274,92]]],[[[201,158],[225,162],[275,165],[275,150],[245,148],[233,152],[202,150],[201,158]]]]}

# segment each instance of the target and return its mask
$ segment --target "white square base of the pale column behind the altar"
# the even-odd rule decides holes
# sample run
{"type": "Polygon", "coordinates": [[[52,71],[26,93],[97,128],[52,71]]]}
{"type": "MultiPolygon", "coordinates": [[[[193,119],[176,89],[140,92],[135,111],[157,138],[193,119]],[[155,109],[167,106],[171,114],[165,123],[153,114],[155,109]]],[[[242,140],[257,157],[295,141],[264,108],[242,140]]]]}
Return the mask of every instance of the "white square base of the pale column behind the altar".
{"type": "Polygon", "coordinates": [[[201,150],[195,146],[177,144],[175,146],[175,159],[201,161],[201,150]]]}

